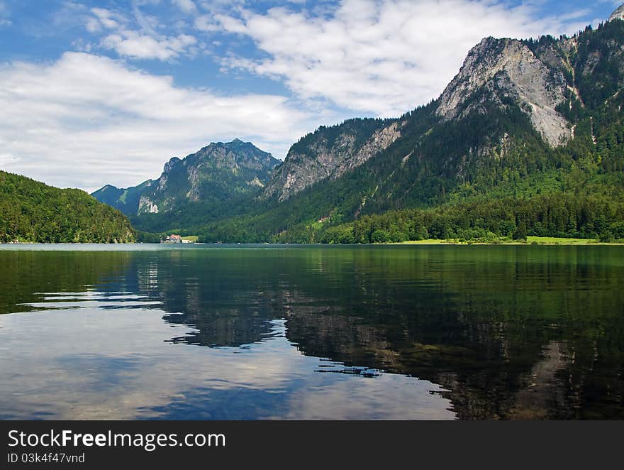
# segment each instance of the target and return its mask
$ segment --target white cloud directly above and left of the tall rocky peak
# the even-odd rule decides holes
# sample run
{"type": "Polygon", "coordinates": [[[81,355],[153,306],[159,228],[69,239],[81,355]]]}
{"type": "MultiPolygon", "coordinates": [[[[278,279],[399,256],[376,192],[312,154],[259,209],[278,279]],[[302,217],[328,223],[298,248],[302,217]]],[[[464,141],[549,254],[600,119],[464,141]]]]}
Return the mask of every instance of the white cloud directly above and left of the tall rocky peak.
{"type": "Polygon", "coordinates": [[[583,13],[536,20],[533,6],[492,0],[342,0],[323,16],[274,8],[215,18],[268,55],[226,58],[224,67],[284,80],[303,99],[396,116],[438,97],[484,36],[573,33],[584,22],[569,20],[583,13]]]}

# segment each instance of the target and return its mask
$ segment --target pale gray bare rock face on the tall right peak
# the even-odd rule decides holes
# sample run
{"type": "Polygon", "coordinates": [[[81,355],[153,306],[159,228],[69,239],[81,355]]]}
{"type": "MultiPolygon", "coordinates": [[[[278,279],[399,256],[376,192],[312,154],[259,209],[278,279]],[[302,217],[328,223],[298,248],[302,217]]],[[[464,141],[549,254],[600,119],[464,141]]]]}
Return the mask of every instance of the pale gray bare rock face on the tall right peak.
{"type": "Polygon", "coordinates": [[[477,92],[485,92],[481,101],[501,106],[501,96],[512,97],[544,140],[556,147],[570,136],[569,123],[556,111],[566,91],[562,72],[548,67],[520,40],[485,38],[469,52],[459,74],[442,93],[437,112],[450,120],[480,111],[479,102],[463,106],[477,92]]]}

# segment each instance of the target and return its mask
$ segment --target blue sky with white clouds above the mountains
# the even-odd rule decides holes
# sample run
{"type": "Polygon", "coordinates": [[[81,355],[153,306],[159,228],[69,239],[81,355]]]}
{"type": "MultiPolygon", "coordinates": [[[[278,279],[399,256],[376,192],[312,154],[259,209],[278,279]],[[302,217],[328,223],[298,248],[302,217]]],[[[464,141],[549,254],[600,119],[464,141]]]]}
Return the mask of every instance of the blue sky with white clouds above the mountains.
{"type": "Polygon", "coordinates": [[[438,97],[486,35],[571,35],[619,3],[0,0],[0,168],[91,191],[211,141],[283,159],[321,124],[438,97]]]}

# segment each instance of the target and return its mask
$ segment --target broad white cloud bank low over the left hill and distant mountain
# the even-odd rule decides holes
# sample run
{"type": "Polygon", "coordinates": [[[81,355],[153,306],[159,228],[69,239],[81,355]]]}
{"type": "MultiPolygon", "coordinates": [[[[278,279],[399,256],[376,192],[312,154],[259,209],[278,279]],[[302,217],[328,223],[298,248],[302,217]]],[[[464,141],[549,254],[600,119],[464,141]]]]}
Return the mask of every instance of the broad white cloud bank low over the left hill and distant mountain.
{"type": "Polygon", "coordinates": [[[311,124],[285,97],[176,87],[87,53],[0,65],[0,165],[95,190],[160,175],[174,155],[240,137],[284,157],[311,124]]]}

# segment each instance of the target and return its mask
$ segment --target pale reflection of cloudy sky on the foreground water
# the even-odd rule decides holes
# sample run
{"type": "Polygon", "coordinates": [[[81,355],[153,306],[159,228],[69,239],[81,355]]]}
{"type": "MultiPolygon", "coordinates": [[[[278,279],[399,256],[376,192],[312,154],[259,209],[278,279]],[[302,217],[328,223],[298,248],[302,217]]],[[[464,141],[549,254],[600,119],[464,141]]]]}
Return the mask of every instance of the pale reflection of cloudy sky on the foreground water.
{"type": "Polygon", "coordinates": [[[283,321],[272,322],[272,334],[253,346],[208,349],[167,344],[171,331],[161,320],[163,313],[157,309],[53,312],[55,321],[46,324],[42,338],[45,350],[34,353],[28,336],[41,327],[45,316],[32,312],[2,317],[11,332],[7,344],[11,360],[2,370],[1,417],[453,416],[447,400],[428,395],[442,390],[427,381],[379,374],[374,380],[357,377],[345,383],[345,376],[314,373],[327,360],[300,354],[286,339],[283,321]],[[393,401],[385,403],[389,398],[393,401]]]}

